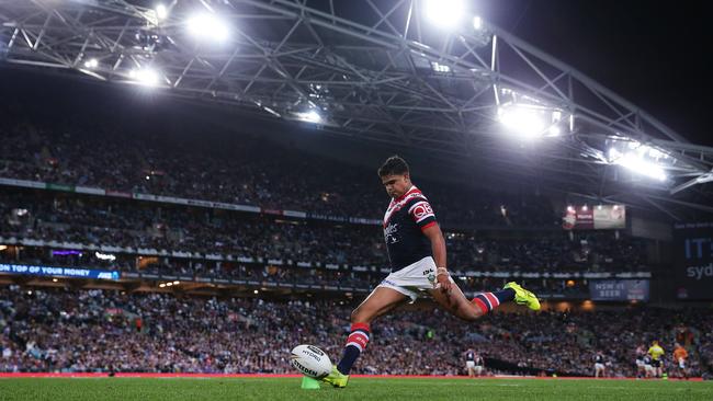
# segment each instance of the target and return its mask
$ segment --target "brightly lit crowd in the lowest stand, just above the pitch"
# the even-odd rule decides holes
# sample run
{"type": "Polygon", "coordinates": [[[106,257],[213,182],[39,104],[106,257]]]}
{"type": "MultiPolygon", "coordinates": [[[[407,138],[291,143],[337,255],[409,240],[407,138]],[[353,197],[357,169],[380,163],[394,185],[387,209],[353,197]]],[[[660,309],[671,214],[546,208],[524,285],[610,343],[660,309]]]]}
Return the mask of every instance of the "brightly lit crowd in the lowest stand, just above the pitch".
{"type": "MultiPolygon", "coordinates": [[[[343,303],[4,286],[0,371],[292,373],[297,344],[338,356],[343,303]]],[[[459,375],[473,347],[486,360],[587,376],[603,351],[608,375],[634,376],[634,350],[655,339],[669,371],[675,341],[689,348],[692,376],[711,367],[709,310],[494,313],[474,324],[444,314],[411,308],[378,319],[354,373],[459,375]],[[691,334],[681,341],[681,332],[691,334]]]]}

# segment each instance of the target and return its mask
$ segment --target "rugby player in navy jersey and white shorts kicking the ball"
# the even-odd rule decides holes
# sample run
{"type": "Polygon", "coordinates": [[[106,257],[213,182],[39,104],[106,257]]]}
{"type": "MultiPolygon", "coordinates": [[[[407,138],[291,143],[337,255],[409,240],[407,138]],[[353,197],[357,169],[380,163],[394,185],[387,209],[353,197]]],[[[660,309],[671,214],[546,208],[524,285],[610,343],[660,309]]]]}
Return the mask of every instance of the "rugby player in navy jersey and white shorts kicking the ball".
{"type": "Polygon", "coordinates": [[[392,273],[351,313],[351,332],[339,364],[322,380],[347,387],[349,371],[366,347],[371,323],[377,317],[420,295],[430,296],[441,308],[474,321],[502,302],[514,301],[540,309],[537,297],[516,283],[501,290],[465,298],[445,263],[445,240],[435,214],[421,191],[411,183],[408,164],[397,156],[378,169],[378,176],[392,200],[384,215],[384,241],[392,273]]]}

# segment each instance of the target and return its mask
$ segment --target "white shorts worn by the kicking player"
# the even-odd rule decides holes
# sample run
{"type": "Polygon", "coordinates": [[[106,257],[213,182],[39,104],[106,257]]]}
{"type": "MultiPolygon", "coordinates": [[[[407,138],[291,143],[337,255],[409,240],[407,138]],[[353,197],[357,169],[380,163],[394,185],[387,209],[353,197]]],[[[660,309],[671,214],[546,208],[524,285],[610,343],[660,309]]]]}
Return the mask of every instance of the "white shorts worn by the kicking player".
{"type": "MultiPolygon", "coordinates": [[[[451,283],[452,277],[449,277],[451,283]]],[[[433,257],[426,256],[416,263],[393,272],[377,287],[395,289],[405,296],[411,298],[411,303],[423,291],[433,289],[435,284],[435,262],[433,257]]]]}

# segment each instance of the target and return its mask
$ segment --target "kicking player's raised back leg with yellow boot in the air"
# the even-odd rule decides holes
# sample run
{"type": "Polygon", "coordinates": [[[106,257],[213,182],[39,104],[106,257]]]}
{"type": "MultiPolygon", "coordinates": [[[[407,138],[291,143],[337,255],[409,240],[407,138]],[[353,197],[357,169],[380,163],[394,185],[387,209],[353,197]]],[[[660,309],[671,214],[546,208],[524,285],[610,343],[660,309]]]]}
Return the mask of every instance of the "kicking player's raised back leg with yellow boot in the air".
{"type": "Polygon", "coordinates": [[[455,283],[451,283],[451,290],[448,293],[441,288],[430,289],[429,293],[443,309],[468,321],[478,319],[502,302],[514,301],[532,310],[540,310],[537,297],[514,282],[506,284],[499,291],[478,294],[472,300],[465,298],[455,283]]]}

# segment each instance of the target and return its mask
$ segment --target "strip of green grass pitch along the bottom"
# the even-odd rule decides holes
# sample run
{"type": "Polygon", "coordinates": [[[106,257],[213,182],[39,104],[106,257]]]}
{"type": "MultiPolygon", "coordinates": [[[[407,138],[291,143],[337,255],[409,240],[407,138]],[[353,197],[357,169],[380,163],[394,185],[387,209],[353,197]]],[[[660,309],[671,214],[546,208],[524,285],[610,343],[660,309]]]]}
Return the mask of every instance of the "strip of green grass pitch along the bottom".
{"type": "Polygon", "coordinates": [[[354,378],[347,389],[302,390],[299,379],[12,378],[0,400],[713,400],[713,382],[354,378]]]}

